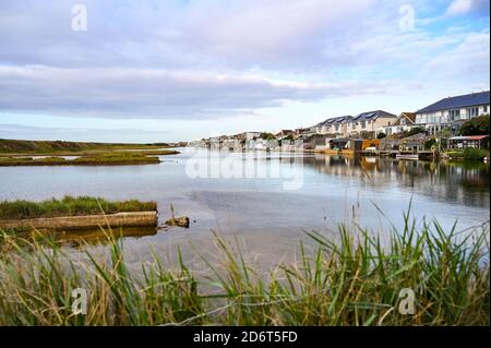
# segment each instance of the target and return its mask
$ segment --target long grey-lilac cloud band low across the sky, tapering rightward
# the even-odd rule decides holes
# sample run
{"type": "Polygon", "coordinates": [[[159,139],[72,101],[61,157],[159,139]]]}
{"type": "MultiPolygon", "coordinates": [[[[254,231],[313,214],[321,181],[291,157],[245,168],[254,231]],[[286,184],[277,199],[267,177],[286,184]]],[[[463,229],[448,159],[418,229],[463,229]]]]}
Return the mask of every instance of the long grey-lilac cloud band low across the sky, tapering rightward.
{"type": "Polygon", "coordinates": [[[391,81],[309,83],[158,69],[0,67],[0,110],[62,116],[219,118],[286,100],[386,93],[391,81]]]}

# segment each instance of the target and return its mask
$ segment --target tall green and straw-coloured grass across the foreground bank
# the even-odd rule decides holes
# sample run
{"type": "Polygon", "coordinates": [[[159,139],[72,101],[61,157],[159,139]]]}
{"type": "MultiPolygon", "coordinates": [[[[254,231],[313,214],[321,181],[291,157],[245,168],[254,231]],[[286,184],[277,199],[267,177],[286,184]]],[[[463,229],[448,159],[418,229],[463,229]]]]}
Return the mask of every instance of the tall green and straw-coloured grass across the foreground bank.
{"type": "Polygon", "coordinates": [[[489,325],[489,230],[463,240],[405,221],[385,248],[343,226],[333,239],[312,232],[316,252],[302,247],[298,263],[267,276],[219,237],[223,267],[204,260],[206,277],[157,255],[135,277],[109,237],[107,260],[75,262],[56,244],[0,233],[10,250],[0,253],[0,325],[489,325]],[[86,315],[72,313],[75,288],[87,291],[86,315]],[[415,291],[414,314],[398,310],[402,289],[415,291]]]}

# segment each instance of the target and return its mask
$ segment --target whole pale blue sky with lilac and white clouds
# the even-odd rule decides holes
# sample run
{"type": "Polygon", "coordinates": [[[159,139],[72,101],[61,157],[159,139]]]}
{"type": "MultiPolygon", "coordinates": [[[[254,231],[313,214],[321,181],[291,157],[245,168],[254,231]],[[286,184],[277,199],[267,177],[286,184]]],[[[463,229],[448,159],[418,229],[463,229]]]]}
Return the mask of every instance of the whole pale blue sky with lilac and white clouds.
{"type": "Polygon", "coordinates": [[[0,139],[192,141],[490,88],[489,0],[1,0],[0,139]]]}

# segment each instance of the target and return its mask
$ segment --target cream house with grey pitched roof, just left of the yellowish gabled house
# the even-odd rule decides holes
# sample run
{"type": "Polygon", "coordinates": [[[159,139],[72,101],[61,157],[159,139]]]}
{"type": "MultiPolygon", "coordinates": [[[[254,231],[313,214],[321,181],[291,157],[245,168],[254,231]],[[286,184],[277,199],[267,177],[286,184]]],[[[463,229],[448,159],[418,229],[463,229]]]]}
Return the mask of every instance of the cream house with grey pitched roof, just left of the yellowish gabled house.
{"type": "Polygon", "coordinates": [[[350,135],[374,137],[376,130],[391,125],[397,116],[383,110],[362,112],[347,122],[347,131],[350,135]]]}

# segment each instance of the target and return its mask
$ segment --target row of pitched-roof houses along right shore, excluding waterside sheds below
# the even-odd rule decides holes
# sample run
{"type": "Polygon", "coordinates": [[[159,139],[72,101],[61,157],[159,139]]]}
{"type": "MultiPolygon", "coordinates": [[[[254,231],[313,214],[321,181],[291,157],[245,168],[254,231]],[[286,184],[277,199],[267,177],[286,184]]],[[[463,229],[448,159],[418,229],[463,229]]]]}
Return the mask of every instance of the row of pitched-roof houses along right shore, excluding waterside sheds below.
{"type": "MultiPolygon", "coordinates": [[[[313,127],[294,130],[282,130],[276,134],[264,132],[243,132],[235,135],[221,135],[202,140],[201,145],[208,147],[235,148],[270,148],[266,141],[301,140],[303,148],[331,148],[332,146],[359,146],[362,140],[376,140],[380,133],[392,137],[396,134],[410,132],[418,128],[423,130],[423,136],[433,136],[442,130],[448,135],[456,135],[459,127],[467,120],[481,115],[489,115],[490,91],[471,93],[467,95],[447,97],[433,103],[415,112],[394,115],[384,110],[361,112],[357,116],[340,116],[328,118],[313,127]],[[357,140],[358,142],[352,142],[357,140]],[[253,145],[247,145],[254,142],[253,145]],[[259,144],[258,144],[259,143],[259,144]],[[351,144],[351,145],[349,145],[351,144]]],[[[421,136],[420,136],[421,137],[421,136]]],[[[418,140],[421,142],[421,140],[418,140]]],[[[363,145],[366,146],[366,145],[363,145]]]]}

